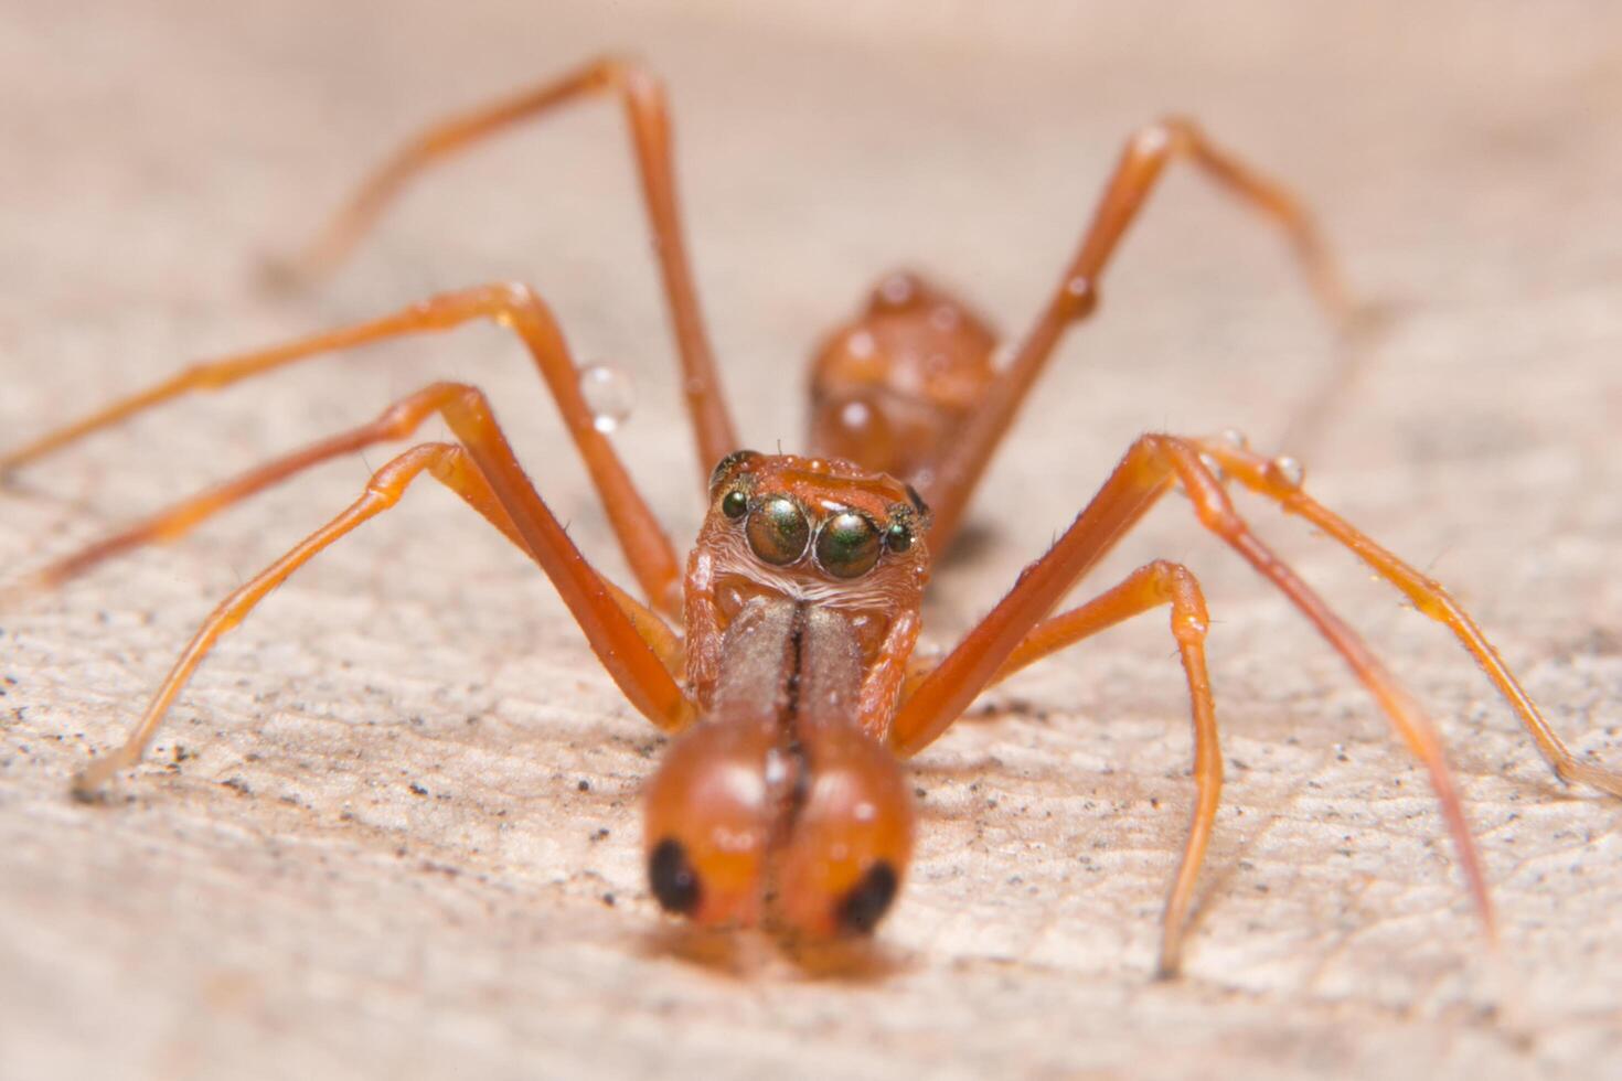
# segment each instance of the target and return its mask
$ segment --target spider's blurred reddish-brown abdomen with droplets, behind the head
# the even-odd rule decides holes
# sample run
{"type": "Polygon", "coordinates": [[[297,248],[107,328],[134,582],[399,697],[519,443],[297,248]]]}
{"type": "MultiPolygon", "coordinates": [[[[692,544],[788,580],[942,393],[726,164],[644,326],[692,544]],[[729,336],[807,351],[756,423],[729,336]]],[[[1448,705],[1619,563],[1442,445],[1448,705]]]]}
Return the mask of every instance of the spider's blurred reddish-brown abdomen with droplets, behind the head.
{"type": "Polygon", "coordinates": [[[915,274],[890,274],[811,365],[811,449],[928,486],[996,378],[996,335],[915,274]]]}

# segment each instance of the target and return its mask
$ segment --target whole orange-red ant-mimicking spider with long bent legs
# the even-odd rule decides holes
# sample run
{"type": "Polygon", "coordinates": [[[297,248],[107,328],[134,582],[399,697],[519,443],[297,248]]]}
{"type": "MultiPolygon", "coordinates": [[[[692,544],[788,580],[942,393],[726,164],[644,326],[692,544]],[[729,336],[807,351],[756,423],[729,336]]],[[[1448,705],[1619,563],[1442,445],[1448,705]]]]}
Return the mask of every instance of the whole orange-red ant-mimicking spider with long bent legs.
{"type": "Polygon", "coordinates": [[[1229,483],[1301,515],[1445,624],[1508,699],[1560,780],[1622,794],[1622,776],[1572,757],[1440,585],[1314,501],[1293,460],[1254,454],[1236,436],[1135,439],[1074,523],[985,619],[938,663],[915,655],[931,553],[952,541],[986,462],[1066,329],[1093,311],[1111,254],[1168,162],[1192,162],[1278,225],[1320,303],[1346,319],[1340,277],[1296,199],[1186,120],[1150,125],[1127,141],[1080,250],[1004,365],[993,361],[993,332],[963,305],[915,276],[886,277],[866,310],[829,335],[814,361],[806,457],[741,451],[733,434],[688,267],[665,96],[633,63],[590,63],[428,128],[371,177],[297,271],[315,274],[339,261],[423,167],[599,94],[616,96],[629,118],[697,454],[714,464],[706,476],[709,512],[686,566],[599,429],[551,313],[522,285],[444,293],[370,323],[188,368],[0,457],[0,470],[191,391],[490,319],[517,334],[534,357],[602,494],[639,596],[603,579],[579,553],[514,459],[485,395],[472,386],[433,384],[368,425],[175,504],[37,575],[54,585],[115,553],[174,538],[311,465],[410,436],[431,415],[454,433],[454,442],[414,446],[376,470],[349,509],[232,593],[198,630],[128,741],[76,778],[79,796],[94,796],[115,771],[139,760],[175,695],[225,630],[316,553],[393,507],[423,473],[540,566],[626,699],[675,736],[647,794],[647,870],[659,903],[699,924],[766,924],[808,938],[869,932],[900,888],[912,854],[912,796],[900,760],[939,739],[999,679],[1165,605],[1194,721],[1194,817],[1166,898],[1160,950],[1161,972],[1174,972],[1221,791],[1205,600],[1186,567],[1155,561],[1056,613],[1072,587],[1173,489],[1189,496],[1200,525],[1317,627],[1424,763],[1489,937],[1487,883],[1435,729],[1362,640],[1257,540],[1229,499],[1229,483]]]}

